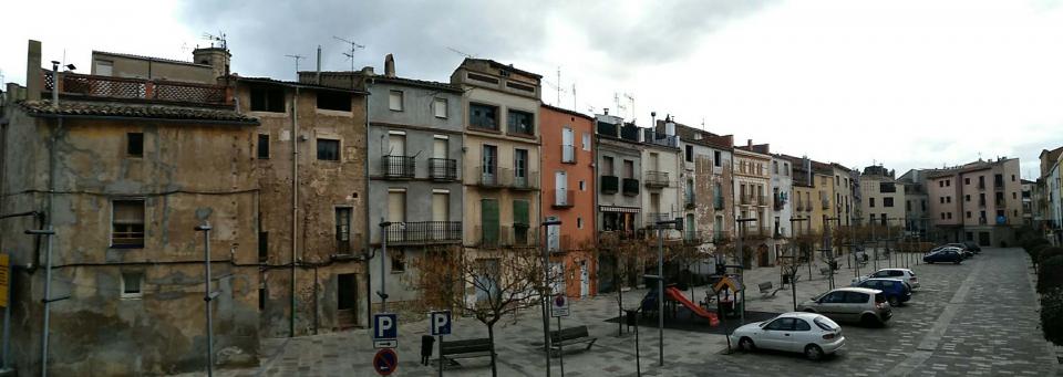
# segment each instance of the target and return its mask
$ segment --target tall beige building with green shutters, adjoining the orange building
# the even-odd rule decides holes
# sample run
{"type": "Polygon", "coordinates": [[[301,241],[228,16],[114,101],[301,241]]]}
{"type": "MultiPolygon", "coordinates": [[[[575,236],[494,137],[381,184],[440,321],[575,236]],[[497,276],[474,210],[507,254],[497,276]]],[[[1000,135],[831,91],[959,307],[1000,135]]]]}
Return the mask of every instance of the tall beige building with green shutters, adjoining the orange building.
{"type": "Polygon", "coordinates": [[[487,263],[538,239],[540,77],[483,59],[466,59],[451,74],[465,91],[463,243],[487,263]]]}

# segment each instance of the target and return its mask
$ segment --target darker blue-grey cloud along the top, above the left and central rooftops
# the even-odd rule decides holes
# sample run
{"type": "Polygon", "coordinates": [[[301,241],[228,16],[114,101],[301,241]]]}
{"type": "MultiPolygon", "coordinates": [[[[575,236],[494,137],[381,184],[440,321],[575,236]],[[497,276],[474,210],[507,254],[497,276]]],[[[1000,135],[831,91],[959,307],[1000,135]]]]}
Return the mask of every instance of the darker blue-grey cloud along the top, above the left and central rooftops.
{"type": "Polygon", "coordinates": [[[453,48],[479,57],[522,65],[545,50],[547,20],[575,25],[609,60],[607,70],[619,76],[641,65],[685,55],[692,44],[727,20],[762,8],[756,1],[662,1],[634,17],[612,1],[341,1],[258,4],[248,1],[192,0],[182,18],[192,28],[223,30],[234,52],[234,70],[245,75],[290,77],[292,62],[285,54],[308,59],[324,49],[326,70],[350,69],[341,54],[339,35],[364,44],[355,52],[355,69],[380,66],[394,53],[399,73],[445,81],[462,56],[453,48]]]}

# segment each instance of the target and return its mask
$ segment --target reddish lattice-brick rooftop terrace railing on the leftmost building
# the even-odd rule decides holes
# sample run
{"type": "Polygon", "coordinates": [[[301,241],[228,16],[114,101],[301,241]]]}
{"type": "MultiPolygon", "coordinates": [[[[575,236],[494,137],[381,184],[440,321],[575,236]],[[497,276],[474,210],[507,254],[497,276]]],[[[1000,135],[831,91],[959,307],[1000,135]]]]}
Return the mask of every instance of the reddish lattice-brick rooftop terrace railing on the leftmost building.
{"type": "MultiPolygon", "coordinates": [[[[55,80],[52,77],[52,72],[41,70],[41,74],[44,76],[44,90],[53,91],[55,80]]],[[[145,102],[179,104],[229,104],[225,92],[226,87],[220,85],[97,76],[71,72],[60,73],[59,83],[59,93],[66,96],[143,100],[145,102]]]]}

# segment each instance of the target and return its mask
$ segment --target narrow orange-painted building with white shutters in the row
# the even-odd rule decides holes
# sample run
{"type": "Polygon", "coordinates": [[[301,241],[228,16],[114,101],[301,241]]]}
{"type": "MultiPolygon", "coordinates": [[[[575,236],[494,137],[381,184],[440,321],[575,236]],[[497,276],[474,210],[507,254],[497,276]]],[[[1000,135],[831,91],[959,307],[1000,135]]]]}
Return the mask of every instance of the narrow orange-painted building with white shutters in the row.
{"type": "Polygon", "coordinates": [[[554,269],[564,269],[557,291],[570,297],[598,290],[595,247],[594,118],[543,105],[543,216],[561,221],[549,227],[546,240],[554,269]],[[563,264],[564,263],[564,264],[563,264]]]}

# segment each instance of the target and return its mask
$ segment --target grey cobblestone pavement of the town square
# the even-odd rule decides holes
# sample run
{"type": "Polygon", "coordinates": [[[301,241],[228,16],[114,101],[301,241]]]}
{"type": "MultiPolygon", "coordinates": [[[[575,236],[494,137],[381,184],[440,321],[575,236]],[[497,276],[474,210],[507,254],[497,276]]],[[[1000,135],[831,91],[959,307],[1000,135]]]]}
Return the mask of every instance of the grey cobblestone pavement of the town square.
{"type": "MultiPolygon", "coordinates": [[[[921,287],[912,301],[894,310],[894,318],[883,328],[843,324],[845,349],[824,362],[813,363],[798,354],[727,353],[724,335],[678,329],[664,331],[664,366],[658,366],[656,327],[640,331],[639,357],[646,376],[1053,376],[1059,364],[1053,349],[1038,327],[1038,301],[1031,286],[1029,258],[1021,249],[989,249],[961,265],[915,264],[916,256],[895,254],[878,268],[907,263],[919,276],[921,287]]],[[[836,285],[847,285],[854,270],[835,275],[836,285]]],[[[860,273],[874,269],[874,263],[860,273]]],[[[827,290],[828,279],[817,269],[808,281],[803,270],[797,283],[797,300],[827,290]]],[[[778,269],[758,268],[747,272],[745,281],[749,310],[785,312],[793,306],[791,291],[763,297],[756,283],[778,285],[778,269]]],[[[625,294],[634,303],[644,290],[625,294]]],[[[703,291],[695,289],[702,297],[703,291]]],[[[543,376],[543,325],[540,312],[530,310],[507,318],[496,327],[499,376],[543,376]]],[[[617,316],[613,295],[586,299],[572,304],[569,325],[587,325],[598,337],[594,348],[565,355],[566,376],[634,376],[634,337],[618,336],[618,325],[605,320],[617,316]]],[[[400,318],[400,358],[395,376],[433,375],[419,364],[421,335],[427,321],[400,318]]],[[[556,322],[551,322],[556,326],[556,322]]],[[[485,337],[486,329],[475,320],[455,322],[451,339],[485,337]]],[[[372,349],[368,329],[292,339],[266,339],[261,366],[257,369],[221,370],[223,376],[375,376],[370,362],[372,349]]],[[[559,375],[558,360],[551,360],[559,375]]],[[[463,360],[445,371],[447,376],[491,375],[487,358],[463,360]]]]}

